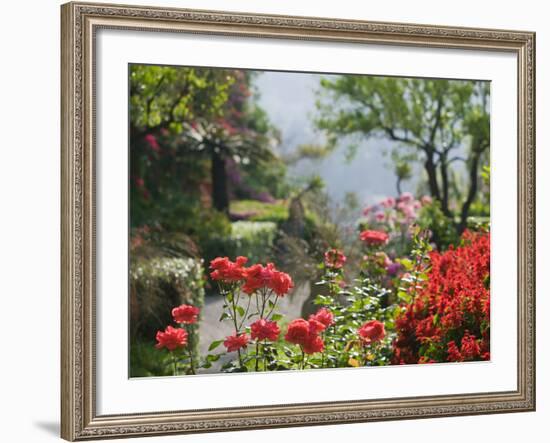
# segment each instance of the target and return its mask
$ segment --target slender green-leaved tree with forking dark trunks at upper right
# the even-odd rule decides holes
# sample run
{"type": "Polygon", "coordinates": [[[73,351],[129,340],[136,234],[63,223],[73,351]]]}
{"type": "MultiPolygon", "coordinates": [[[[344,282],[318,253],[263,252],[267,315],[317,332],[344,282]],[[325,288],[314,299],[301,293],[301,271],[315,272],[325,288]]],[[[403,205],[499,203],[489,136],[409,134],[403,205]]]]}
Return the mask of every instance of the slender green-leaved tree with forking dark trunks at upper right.
{"type": "Polygon", "coordinates": [[[464,230],[481,166],[488,163],[488,82],[342,75],[321,81],[318,108],[316,123],[332,148],[353,135],[394,141],[393,160],[401,179],[410,172],[403,163],[421,160],[430,194],[457,230],[464,230]],[[452,209],[455,162],[465,164],[468,183],[455,196],[458,208],[452,209]]]}

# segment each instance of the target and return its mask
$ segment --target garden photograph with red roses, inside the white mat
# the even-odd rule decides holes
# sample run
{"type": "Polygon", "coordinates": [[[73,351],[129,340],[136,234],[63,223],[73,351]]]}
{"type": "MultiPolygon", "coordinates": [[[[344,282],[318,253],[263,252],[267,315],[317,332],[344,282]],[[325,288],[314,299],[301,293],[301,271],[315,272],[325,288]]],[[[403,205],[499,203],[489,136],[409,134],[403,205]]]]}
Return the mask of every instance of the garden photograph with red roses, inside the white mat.
{"type": "Polygon", "coordinates": [[[489,361],[490,93],[130,64],[129,377],[489,361]]]}

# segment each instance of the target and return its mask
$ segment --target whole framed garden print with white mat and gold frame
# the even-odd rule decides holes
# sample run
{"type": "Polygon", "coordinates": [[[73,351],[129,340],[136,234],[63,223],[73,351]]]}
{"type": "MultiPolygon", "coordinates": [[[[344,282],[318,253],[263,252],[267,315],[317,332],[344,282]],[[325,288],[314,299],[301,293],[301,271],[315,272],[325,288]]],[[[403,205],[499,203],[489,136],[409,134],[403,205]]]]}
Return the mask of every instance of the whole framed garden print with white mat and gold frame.
{"type": "Polygon", "coordinates": [[[534,410],[534,33],[61,14],[63,438],[534,410]]]}

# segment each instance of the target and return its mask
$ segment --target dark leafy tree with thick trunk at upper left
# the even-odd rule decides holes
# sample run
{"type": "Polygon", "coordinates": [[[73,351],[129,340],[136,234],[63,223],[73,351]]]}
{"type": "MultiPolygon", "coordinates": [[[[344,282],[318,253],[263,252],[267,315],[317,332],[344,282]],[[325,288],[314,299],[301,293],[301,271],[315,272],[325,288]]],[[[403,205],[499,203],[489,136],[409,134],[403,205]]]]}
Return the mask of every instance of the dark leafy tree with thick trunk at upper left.
{"type": "Polygon", "coordinates": [[[133,213],[141,205],[143,214],[161,214],[205,179],[213,207],[228,213],[227,163],[273,157],[272,128],[249,99],[250,80],[239,70],[130,67],[133,213]]]}

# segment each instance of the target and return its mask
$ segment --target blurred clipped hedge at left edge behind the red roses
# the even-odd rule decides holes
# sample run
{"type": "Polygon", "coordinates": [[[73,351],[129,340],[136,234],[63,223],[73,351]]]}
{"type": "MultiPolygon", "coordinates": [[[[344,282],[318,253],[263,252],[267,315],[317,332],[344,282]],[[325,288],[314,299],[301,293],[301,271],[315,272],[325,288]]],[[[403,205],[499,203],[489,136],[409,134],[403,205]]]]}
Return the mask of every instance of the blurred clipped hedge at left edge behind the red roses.
{"type": "MultiPolygon", "coordinates": [[[[157,330],[171,324],[174,306],[204,305],[204,270],[193,258],[137,260],[130,269],[130,331],[132,340],[153,342],[157,330]]],[[[198,325],[189,342],[198,349],[198,325]]]]}

